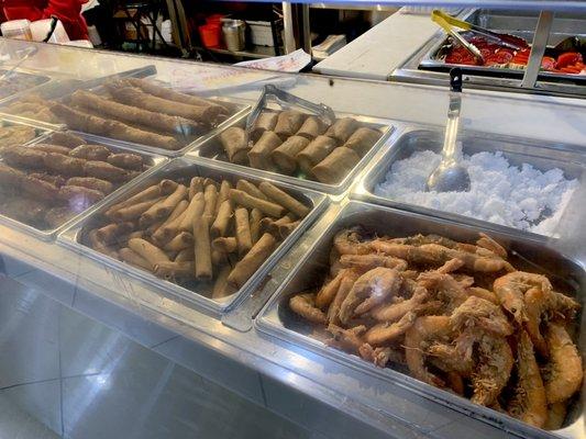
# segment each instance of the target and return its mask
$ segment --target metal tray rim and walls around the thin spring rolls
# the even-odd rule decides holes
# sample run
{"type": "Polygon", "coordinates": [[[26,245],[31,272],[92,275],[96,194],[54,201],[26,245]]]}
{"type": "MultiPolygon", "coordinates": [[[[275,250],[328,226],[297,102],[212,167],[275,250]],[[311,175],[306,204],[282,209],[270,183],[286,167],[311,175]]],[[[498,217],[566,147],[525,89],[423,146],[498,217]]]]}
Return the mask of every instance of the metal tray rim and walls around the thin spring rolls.
{"type": "Polygon", "coordinates": [[[273,266],[278,261],[278,259],[289,249],[289,247],[303,234],[307,227],[318,217],[318,215],[325,209],[328,203],[328,198],[319,192],[300,190],[290,184],[274,182],[278,188],[286,190],[289,194],[296,196],[299,200],[310,203],[312,205],[311,212],[301,221],[301,223],[295,228],[295,230],[285,238],[278,247],[273,251],[273,254],[265,260],[265,262],[256,270],[256,272],[246,281],[246,283],[234,294],[222,297],[218,301],[207,297],[204,293],[208,293],[212,283],[202,282],[200,283],[199,289],[189,290],[176,283],[165,281],[161,278],[157,278],[153,273],[150,273],[145,270],[135,268],[129,263],[115,260],[111,257],[108,257],[99,251],[96,251],[81,243],[84,234],[97,225],[102,218],[101,214],[106,212],[111,205],[128,199],[129,196],[144,190],[145,188],[158,182],[163,179],[173,179],[173,178],[188,178],[188,177],[210,177],[218,180],[226,179],[231,180],[233,183],[237,179],[247,179],[251,182],[259,183],[266,181],[266,179],[261,179],[257,177],[251,177],[247,173],[240,172],[237,170],[226,170],[218,164],[203,164],[196,160],[190,160],[188,158],[176,158],[164,166],[156,169],[155,172],[151,172],[148,176],[140,179],[134,184],[126,185],[124,191],[117,193],[115,196],[109,199],[107,203],[103,203],[100,209],[95,210],[91,215],[86,215],[80,221],[77,221],[76,224],[70,226],[67,230],[64,230],[57,243],[63,244],[67,247],[74,248],[76,251],[79,251],[82,255],[86,255],[99,262],[102,262],[107,266],[112,267],[117,271],[128,273],[133,278],[143,280],[153,288],[159,289],[162,291],[168,292],[173,295],[176,295],[183,300],[195,303],[202,308],[210,311],[215,314],[221,314],[236,306],[246,295],[252,293],[257,286],[258,282],[265,277],[265,274],[273,268],[273,266]]]}

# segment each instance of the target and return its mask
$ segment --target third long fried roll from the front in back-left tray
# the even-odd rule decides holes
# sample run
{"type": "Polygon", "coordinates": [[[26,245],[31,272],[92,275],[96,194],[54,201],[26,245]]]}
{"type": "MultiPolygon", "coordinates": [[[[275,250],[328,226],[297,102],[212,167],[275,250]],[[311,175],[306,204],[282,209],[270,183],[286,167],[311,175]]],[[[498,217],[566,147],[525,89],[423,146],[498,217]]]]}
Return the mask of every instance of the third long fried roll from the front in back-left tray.
{"type": "Polygon", "coordinates": [[[115,89],[115,93],[112,94],[112,98],[126,105],[137,106],[155,113],[163,113],[167,116],[185,117],[204,125],[212,125],[221,112],[218,106],[199,106],[174,102],[131,87],[115,89]]]}

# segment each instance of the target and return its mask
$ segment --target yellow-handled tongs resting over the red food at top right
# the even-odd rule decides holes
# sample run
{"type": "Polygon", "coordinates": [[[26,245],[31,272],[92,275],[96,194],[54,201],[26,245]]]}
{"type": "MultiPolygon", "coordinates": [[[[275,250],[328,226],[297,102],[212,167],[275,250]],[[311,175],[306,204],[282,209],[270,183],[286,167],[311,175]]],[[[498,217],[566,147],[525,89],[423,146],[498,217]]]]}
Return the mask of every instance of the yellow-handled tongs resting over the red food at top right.
{"type": "Polygon", "coordinates": [[[476,24],[468,23],[467,21],[455,19],[452,15],[434,10],[431,13],[431,20],[438,23],[442,29],[454,40],[456,40],[463,47],[465,47],[476,59],[484,63],[483,55],[478,47],[469,43],[464,38],[454,27],[457,27],[462,31],[471,31],[476,34],[483,35],[484,37],[500,44],[501,46],[512,48],[515,50],[520,50],[526,46],[519,44],[519,38],[513,35],[499,34],[487,29],[480,27],[476,24]]]}

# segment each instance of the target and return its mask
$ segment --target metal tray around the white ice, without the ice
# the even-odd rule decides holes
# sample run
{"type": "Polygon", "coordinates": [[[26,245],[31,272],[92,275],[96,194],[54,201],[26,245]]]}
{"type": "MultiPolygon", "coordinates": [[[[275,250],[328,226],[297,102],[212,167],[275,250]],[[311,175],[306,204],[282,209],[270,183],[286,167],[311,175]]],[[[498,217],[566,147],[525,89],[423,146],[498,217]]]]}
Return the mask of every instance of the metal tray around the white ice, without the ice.
{"type": "MultiPolygon", "coordinates": [[[[578,180],[578,188],[576,188],[573,194],[575,200],[579,200],[579,194],[586,191],[584,184],[586,176],[586,149],[584,147],[471,131],[462,131],[458,134],[458,142],[462,142],[462,149],[465,155],[482,151],[502,151],[509,164],[513,166],[529,164],[533,168],[542,171],[560,168],[564,171],[565,178],[578,180]]],[[[432,150],[441,154],[442,146],[443,131],[441,128],[425,125],[410,125],[406,127],[396,137],[396,140],[389,146],[388,150],[379,154],[377,160],[372,162],[363,172],[361,180],[352,189],[351,198],[471,224],[484,229],[511,233],[531,239],[544,240],[544,235],[539,235],[533,232],[521,230],[515,227],[477,219],[472,216],[419,206],[417,204],[408,204],[375,195],[375,187],[385,180],[387,172],[396,161],[406,159],[414,153],[422,150],[432,150]]]]}

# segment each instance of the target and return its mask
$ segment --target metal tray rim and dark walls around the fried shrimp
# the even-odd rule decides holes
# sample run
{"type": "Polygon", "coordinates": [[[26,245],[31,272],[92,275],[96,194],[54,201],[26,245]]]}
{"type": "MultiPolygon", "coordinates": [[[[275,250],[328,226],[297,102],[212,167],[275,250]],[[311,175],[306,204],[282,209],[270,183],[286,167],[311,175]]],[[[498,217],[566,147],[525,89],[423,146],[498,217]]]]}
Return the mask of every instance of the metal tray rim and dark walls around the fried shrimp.
{"type": "MultiPolygon", "coordinates": [[[[365,383],[368,382],[368,376],[372,375],[391,382],[398,382],[410,391],[433,402],[491,424],[511,434],[517,434],[520,437],[551,438],[552,435],[545,430],[531,427],[506,414],[473,404],[465,397],[416,380],[408,375],[407,369],[400,369],[399,365],[392,365],[394,369],[378,368],[368,361],[362,360],[357,356],[328,347],[322,341],[310,336],[314,326],[290,311],[288,305],[289,297],[308,289],[321,285],[325,273],[329,271],[330,250],[334,235],[339,230],[354,225],[361,225],[367,230],[390,237],[403,237],[414,234],[439,234],[464,241],[475,241],[479,232],[486,232],[475,226],[462,225],[447,219],[433,218],[390,207],[376,206],[360,201],[350,201],[343,206],[339,204],[332,205],[327,214],[323,215],[322,219],[306,235],[303,243],[310,243],[309,250],[289,272],[283,281],[281,286],[261,311],[259,317],[255,320],[256,328],[262,334],[277,337],[288,344],[308,348],[319,354],[364,372],[365,383]]],[[[491,232],[490,236],[523,257],[522,259],[515,259],[512,256],[509,257],[520,269],[535,271],[534,264],[528,266],[527,262],[523,264],[523,260],[527,258],[531,262],[541,266],[545,270],[545,274],[551,275],[551,273],[555,273],[555,275],[550,277],[550,280],[554,284],[556,280],[563,279],[565,281],[564,284],[579,285],[576,299],[584,306],[582,292],[586,289],[586,271],[584,269],[586,261],[567,259],[553,249],[543,246],[543,244],[528,237],[520,237],[517,234],[491,232]]],[[[584,337],[584,331],[586,330],[585,319],[586,313],[582,313],[578,320],[581,331],[577,346],[583,357],[586,353],[584,337]]],[[[586,393],[582,392],[579,397],[574,396],[575,401],[568,407],[564,428],[555,430],[556,434],[568,438],[583,438],[586,435],[583,415],[585,395],[586,393]]],[[[377,408],[385,410],[385,407],[377,408]]]]}

